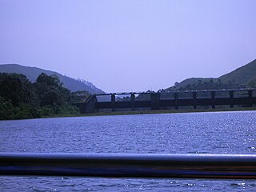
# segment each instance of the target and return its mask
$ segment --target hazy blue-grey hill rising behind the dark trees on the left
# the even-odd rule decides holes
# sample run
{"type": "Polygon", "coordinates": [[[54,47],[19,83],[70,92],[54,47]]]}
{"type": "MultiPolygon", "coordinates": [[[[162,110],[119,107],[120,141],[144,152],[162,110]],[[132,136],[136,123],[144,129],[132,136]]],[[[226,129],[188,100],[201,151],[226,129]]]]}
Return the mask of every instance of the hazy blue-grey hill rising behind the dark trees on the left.
{"type": "Polygon", "coordinates": [[[26,75],[26,78],[30,79],[31,82],[35,82],[39,74],[42,74],[42,73],[45,73],[47,75],[55,74],[63,83],[63,86],[71,91],[87,90],[90,92],[90,94],[104,93],[102,90],[94,86],[91,82],[69,78],[62,74],[58,74],[57,72],[50,71],[50,70],[42,70],[37,67],[21,66],[17,64],[5,64],[5,65],[0,65],[0,73],[3,73],[3,72],[24,74],[26,75]]]}

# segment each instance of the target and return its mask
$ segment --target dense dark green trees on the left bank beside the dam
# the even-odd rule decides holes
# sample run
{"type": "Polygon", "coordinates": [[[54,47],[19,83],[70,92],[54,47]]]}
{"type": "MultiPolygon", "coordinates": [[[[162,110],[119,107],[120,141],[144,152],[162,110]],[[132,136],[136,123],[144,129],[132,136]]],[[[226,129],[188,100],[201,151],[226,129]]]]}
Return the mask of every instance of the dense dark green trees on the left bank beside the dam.
{"type": "Polygon", "coordinates": [[[79,114],[72,104],[84,102],[87,91],[70,92],[54,75],[30,82],[23,74],[0,73],[0,119],[42,118],[79,114]]]}

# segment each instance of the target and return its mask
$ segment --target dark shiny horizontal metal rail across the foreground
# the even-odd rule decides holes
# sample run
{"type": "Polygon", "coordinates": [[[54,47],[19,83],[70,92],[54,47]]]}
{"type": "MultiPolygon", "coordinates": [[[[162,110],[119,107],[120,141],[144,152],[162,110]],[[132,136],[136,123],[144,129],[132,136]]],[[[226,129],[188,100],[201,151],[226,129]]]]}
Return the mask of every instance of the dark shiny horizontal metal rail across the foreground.
{"type": "Polygon", "coordinates": [[[0,153],[0,175],[255,179],[256,155],[0,153]]]}

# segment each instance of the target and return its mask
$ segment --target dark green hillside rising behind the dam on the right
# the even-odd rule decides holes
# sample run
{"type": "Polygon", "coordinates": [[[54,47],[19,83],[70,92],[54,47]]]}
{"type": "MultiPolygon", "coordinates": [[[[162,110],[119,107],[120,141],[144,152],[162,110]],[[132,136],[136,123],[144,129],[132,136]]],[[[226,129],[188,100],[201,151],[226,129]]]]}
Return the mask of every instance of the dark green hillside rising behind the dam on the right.
{"type": "Polygon", "coordinates": [[[226,88],[256,88],[256,59],[219,78],[187,78],[167,88],[170,90],[205,90],[226,88]]]}

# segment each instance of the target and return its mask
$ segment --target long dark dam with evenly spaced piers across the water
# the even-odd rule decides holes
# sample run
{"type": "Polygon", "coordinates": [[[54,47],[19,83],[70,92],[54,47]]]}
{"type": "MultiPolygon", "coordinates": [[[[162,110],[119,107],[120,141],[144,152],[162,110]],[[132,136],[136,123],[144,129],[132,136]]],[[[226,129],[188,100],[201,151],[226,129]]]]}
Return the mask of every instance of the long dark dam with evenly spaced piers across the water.
{"type": "Polygon", "coordinates": [[[83,114],[129,110],[215,109],[256,106],[256,89],[184,90],[90,95],[76,103],[83,114]]]}

